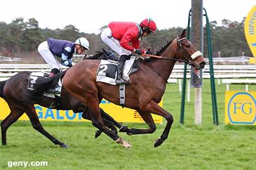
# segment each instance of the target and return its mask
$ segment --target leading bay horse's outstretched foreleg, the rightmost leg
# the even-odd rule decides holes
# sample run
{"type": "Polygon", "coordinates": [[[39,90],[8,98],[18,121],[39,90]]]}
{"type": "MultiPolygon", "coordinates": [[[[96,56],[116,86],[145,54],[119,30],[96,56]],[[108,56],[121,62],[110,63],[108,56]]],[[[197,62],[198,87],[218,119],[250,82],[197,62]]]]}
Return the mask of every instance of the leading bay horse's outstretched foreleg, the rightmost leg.
{"type": "Polygon", "coordinates": [[[162,107],[157,105],[153,100],[151,100],[144,108],[142,108],[145,111],[148,111],[149,113],[154,113],[155,115],[163,116],[167,120],[167,124],[164,128],[164,132],[160,136],[159,139],[155,141],[154,146],[157,147],[160,144],[164,142],[165,139],[168,138],[170,128],[172,126],[172,123],[174,122],[174,119],[172,118],[172,115],[165,111],[162,107]]]}

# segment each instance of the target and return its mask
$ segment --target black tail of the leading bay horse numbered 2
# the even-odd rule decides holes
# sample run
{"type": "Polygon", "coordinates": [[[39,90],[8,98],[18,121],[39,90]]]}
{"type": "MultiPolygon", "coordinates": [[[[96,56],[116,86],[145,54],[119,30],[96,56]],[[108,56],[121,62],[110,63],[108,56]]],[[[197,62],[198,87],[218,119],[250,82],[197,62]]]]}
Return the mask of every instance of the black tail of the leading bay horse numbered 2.
{"type": "Polygon", "coordinates": [[[37,82],[33,86],[34,90],[31,90],[32,96],[41,97],[43,93],[51,91],[56,87],[59,78],[63,77],[65,73],[66,70],[54,75],[54,77],[37,79],[37,82]]]}

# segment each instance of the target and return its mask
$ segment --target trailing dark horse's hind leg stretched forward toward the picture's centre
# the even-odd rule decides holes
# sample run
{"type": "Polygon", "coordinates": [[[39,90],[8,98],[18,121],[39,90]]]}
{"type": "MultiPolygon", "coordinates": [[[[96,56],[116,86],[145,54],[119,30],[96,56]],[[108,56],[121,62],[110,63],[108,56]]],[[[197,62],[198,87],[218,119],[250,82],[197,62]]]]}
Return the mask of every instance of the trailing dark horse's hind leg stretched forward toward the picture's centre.
{"type": "Polygon", "coordinates": [[[26,114],[27,114],[27,116],[29,116],[29,120],[31,121],[33,128],[35,130],[39,131],[42,135],[46,136],[46,138],[50,139],[52,141],[52,143],[59,144],[61,146],[61,148],[67,148],[68,147],[67,144],[62,143],[58,139],[54,138],[54,136],[49,134],[46,130],[44,130],[44,128],[42,127],[42,125],[37,117],[37,113],[36,113],[34,106],[29,106],[29,107],[30,108],[26,110],[26,114]]]}

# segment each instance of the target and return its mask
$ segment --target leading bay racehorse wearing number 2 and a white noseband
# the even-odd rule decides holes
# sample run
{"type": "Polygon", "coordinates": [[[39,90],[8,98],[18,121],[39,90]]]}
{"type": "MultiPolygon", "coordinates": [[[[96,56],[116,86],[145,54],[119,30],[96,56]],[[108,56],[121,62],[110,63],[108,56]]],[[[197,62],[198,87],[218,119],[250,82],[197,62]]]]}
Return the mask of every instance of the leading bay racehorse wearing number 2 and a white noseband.
{"type": "MultiPolygon", "coordinates": [[[[202,53],[197,51],[194,45],[186,38],[186,30],[178,35],[175,39],[168,42],[167,45],[157,55],[162,59],[150,59],[149,62],[142,62],[140,70],[130,75],[131,83],[126,85],[126,103],[127,108],[137,110],[145,123],[149,125],[149,129],[141,130],[135,128],[127,128],[129,135],[154,133],[156,126],[151,113],[163,116],[167,120],[164,132],[154,143],[157,147],[162,144],[169,135],[170,128],[173,123],[173,117],[162,107],[157,105],[164,95],[167,79],[174,68],[175,62],[185,62],[199,70],[204,68],[205,60],[202,53]]],[[[79,64],[74,65],[66,73],[62,79],[63,86],[67,92],[84,103],[92,116],[92,124],[99,130],[103,131],[117,143],[122,144],[126,148],[131,145],[117,134],[109,130],[102,121],[99,103],[102,98],[116,105],[120,105],[119,86],[107,83],[96,82],[96,73],[99,67],[99,60],[83,60],[79,64]]],[[[37,85],[37,93],[42,93],[49,86],[37,85]]]]}

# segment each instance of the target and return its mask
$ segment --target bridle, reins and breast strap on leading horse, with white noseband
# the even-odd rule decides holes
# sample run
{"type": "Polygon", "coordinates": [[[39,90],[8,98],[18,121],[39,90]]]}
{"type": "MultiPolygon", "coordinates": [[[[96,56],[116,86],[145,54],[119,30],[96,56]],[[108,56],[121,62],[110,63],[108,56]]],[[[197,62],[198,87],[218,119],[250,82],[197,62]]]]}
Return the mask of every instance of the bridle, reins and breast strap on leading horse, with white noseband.
{"type": "MultiPolygon", "coordinates": [[[[183,37],[182,39],[179,39],[179,36],[176,37],[177,39],[177,42],[178,42],[178,45],[179,45],[179,50],[180,52],[182,53],[183,52],[183,48],[182,48],[182,40],[184,39],[187,39],[187,37],[183,37]]],[[[195,52],[194,54],[192,54],[190,56],[191,59],[195,59],[196,57],[198,57],[199,55],[202,55],[201,52],[197,51],[195,52]]],[[[177,62],[184,62],[185,64],[188,64],[188,65],[196,65],[197,67],[199,67],[198,64],[195,64],[195,62],[193,62],[192,60],[190,60],[189,57],[187,57],[186,55],[184,55],[185,59],[170,59],[168,57],[160,57],[160,58],[157,58],[157,59],[164,59],[164,60],[173,60],[173,61],[177,61],[177,62]]],[[[159,72],[159,70],[157,70],[150,62],[149,60],[149,64],[150,66],[153,68],[153,70],[155,70],[155,72],[157,72],[162,78],[164,78],[165,82],[167,83],[167,79],[159,72]]]]}

